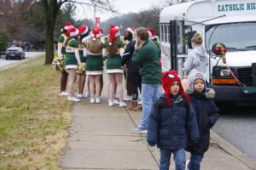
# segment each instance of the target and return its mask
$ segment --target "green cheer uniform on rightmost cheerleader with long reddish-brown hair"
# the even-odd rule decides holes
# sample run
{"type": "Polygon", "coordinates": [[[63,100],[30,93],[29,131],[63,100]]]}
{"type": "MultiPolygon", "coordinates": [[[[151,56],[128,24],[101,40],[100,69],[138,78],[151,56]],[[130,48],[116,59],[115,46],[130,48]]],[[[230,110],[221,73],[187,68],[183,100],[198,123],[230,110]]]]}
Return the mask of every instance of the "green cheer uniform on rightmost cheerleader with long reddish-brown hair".
{"type": "Polygon", "coordinates": [[[107,73],[123,73],[122,65],[121,65],[121,56],[119,54],[119,50],[124,49],[124,42],[119,40],[118,42],[118,50],[113,56],[108,54],[107,60],[107,73]]]}

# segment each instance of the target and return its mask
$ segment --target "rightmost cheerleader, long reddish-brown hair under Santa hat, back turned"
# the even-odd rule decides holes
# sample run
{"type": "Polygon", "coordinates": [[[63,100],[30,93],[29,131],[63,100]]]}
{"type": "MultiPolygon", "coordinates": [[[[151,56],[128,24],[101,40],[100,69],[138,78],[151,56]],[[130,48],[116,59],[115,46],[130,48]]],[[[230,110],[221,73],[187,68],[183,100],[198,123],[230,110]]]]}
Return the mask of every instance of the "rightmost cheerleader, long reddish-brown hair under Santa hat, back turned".
{"type": "Polygon", "coordinates": [[[113,95],[115,91],[115,83],[117,86],[117,94],[119,95],[119,106],[125,107],[123,101],[123,69],[121,67],[121,56],[124,53],[124,42],[120,40],[120,32],[118,26],[111,26],[109,29],[109,37],[103,50],[103,55],[108,56],[107,73],[109,78],[109,99],[108,105],[113,106],[113,95]]]}

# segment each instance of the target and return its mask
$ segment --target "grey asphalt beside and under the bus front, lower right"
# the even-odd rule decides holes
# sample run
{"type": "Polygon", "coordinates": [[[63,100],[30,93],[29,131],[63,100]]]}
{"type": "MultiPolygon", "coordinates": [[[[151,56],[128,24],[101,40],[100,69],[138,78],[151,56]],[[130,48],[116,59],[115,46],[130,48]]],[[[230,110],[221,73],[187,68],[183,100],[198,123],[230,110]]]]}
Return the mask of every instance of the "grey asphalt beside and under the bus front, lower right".
{"type": "Polygon", "coordinates": [[[213,131],[256,161],[256,106],[226,107],[213,131]]]}

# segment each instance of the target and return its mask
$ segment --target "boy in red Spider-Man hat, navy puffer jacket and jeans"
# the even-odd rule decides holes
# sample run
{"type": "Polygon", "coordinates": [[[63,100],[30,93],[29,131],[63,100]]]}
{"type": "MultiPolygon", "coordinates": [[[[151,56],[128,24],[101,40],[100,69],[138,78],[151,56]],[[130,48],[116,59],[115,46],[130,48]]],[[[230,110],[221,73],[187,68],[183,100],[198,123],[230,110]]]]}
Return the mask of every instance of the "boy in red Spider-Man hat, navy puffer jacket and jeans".
{"type": "Polygon", "coordinates": [[[185,168],[187,139],[199,138],[195,111],[184,93],[177,71],[166,71],[162,76],[162,94],[148,119],[148,144],[160,148],[160,170],[168,170],[174,154],[176,170],[185,168]]]}

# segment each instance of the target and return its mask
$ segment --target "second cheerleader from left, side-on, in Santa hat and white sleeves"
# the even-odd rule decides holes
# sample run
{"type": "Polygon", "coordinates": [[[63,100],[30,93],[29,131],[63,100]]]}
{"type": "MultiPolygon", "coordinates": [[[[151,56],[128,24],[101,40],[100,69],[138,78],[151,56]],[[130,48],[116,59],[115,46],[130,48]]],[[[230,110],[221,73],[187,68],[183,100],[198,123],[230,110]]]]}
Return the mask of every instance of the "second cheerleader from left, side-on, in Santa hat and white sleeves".
{"type": "Polygon", "coordinates": [[[67,42],[66,42],[66,69],[69,74],[68,78],[68,100],[80,101],[80,99],[74,96],[74,84],[77,79],[76,70],[78,65],[81,65],[79,56],[79,29],[69,28],[67,30],[67,42]]]}

